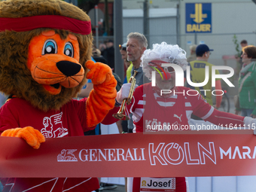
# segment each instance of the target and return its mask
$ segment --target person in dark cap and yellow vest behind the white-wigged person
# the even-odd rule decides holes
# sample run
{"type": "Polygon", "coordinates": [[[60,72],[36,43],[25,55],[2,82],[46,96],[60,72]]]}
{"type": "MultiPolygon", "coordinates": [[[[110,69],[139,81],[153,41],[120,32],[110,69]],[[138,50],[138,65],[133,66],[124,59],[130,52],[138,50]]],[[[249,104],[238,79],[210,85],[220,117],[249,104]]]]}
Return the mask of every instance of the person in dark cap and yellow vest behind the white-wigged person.
{"type": "MultiPolygon", "coordinates": [[[[208,62],[209,56],[211,54],[209,47],[206,44],[200,44],[197,46],[196,54],[197,59],[188,63],[190,66],[190,80],[193,83],[203,83],[206,79],[206,66],[209,66],[209,81],[203,87],[192,87],[190,84],[187,84],[187,87],[193,90],[197,90],[203,96],[206,101],[212,105],[212,65],[208,62]],[[211,91],[200,91],[200,90],[211,90],[211,91]]],[[[218,70],[216,70],[215,74],[220,74],[218,70]]],[[[215,90],[222,90],[221,88],[221,80],[216,79],[215,81],[215,90]]],[[[222,100],[222,92],[216,91],[216,105],[215,108],[219,108],[221,106],[222,100]]],[[[192,118],[198,119],[198,117],[192,114],[192,118]]]]}

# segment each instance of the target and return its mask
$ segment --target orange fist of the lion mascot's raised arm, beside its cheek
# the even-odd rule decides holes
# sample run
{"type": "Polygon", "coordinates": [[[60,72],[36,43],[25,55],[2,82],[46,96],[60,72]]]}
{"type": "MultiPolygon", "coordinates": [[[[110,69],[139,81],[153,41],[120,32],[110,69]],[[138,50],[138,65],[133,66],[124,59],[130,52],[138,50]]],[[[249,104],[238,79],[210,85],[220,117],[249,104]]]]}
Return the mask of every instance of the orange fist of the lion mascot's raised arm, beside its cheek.
{"type": "Polygon", "coordinates": [[[110,81],[112,70],[109,66],[91,60],[87,61],[85,66],[90,69],[90,72],[87,73],[87,78],[91,79],[93,84],[103,84],[110,81]]]}

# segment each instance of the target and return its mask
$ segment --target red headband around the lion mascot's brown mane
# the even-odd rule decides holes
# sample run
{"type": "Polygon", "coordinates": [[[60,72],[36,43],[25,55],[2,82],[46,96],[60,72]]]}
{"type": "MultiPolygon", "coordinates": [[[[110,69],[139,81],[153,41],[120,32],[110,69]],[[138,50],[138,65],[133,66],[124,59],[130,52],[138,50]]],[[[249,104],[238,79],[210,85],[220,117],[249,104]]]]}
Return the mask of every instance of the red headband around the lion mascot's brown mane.
{"type": "Polygon", "coordinates": [[[0,32],[5,30],[27,32],[38,28],[65,29],[81,35],[89,35],[91,32],[90,21],[76,20],[60,15],[37,15],[20,18],[0,18],[0,32]]]}

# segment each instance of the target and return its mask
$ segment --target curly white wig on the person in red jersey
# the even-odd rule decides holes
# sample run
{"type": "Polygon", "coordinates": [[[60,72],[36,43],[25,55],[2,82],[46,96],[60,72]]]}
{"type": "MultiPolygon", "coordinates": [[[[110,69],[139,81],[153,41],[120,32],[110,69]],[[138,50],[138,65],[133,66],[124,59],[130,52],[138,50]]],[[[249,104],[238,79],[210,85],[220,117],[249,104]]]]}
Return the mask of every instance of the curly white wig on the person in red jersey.
{"type": "Polygon", "coordinates": [[[148,66],[148,62],[151,60],[162,60],[169,63],[175,63],[185,71],[187,69],[187,58],[186,51],[178,47],[178,44],[166,44],[162,42],[161,44],[153,44],[153,49],[145,50],[141,57],[141,66],[143,72],[147,78],[151,80],[151,67],[148,66]]]}

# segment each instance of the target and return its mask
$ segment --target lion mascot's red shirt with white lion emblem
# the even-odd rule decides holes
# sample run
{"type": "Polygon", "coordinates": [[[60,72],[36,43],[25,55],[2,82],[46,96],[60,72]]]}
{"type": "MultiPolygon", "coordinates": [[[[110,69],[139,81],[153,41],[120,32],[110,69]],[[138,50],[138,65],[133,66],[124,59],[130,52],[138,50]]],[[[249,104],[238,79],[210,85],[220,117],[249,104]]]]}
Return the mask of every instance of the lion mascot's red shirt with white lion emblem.
{"type": "MultiPolygon", "coordinates": [[[[40,111],[24,99],[10,99],[0,109],[0,133],[11,128],[32,126],[46,138],[84,136],[86,124],[86,99],[63,105],[59,111],[40,111]]],[[[50,171],[50,170],[49,170],[50,171]]],[[[97,178],[2,178],[5,191],[59,192],[86,191],[99,188],[97,178]]]]}

